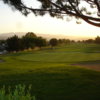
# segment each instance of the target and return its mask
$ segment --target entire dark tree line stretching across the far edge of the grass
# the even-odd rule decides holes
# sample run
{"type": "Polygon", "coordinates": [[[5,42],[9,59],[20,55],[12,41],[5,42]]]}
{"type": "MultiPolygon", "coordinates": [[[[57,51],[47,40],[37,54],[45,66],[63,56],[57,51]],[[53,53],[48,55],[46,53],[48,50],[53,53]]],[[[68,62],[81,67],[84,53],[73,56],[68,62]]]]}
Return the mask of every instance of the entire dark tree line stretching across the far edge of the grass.
{"type": "MultiPolygon", "coordinates": [[[[96,43],[100,44],[100,37],[97,36],[94,40],[82,40],[77,41],[78,43],[96,43]]],[[[23,51],[27,49],[34,49],[35,47],[41,48],[45,46],[51,46],[54,48],[57,45],[66,45],[70,43],[77,43],[74,40],[70,39],[56,39],[51,38],[49,41],[42,37],[36,36],[33,32],[28,32],[26,35],[19,38],[17,35],[9,37],[6,40],[0,40],[0,51],[6,49],[9,52],[12,51],[23,51]]]]}

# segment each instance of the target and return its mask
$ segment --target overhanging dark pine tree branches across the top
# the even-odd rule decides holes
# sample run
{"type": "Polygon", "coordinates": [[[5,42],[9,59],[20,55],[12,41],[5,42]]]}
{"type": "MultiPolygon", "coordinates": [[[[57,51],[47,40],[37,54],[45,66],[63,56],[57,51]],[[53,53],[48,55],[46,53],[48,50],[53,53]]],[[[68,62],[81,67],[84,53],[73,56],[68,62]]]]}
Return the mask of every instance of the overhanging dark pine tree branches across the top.
{"type": "MultiPolygon", "coordinates": [[[[49,13],[50,16],[57,18],[63,18],[65,15],[74,16],[77,19],[81,18],[91,25],[100,27],[100,0],[37,0],[41,3],[39,8],[28,7],[22,0],[2,1],[26,16],[30,12],[35,15],[49,13]]],[[[80,22],[77,23],[80,24],[80,22]]]]}

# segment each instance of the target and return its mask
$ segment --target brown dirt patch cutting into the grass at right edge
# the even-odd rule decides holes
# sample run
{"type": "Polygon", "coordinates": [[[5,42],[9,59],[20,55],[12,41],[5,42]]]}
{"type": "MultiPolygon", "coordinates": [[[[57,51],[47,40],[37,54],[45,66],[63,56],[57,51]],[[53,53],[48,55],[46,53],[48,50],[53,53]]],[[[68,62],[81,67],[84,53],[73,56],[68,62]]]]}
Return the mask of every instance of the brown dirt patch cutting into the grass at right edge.
{"type": "Polygon", "coordinates": [[[73,64],[73,65],[100,71],[100,63],[97,63],[97,64],[73,64]]]}

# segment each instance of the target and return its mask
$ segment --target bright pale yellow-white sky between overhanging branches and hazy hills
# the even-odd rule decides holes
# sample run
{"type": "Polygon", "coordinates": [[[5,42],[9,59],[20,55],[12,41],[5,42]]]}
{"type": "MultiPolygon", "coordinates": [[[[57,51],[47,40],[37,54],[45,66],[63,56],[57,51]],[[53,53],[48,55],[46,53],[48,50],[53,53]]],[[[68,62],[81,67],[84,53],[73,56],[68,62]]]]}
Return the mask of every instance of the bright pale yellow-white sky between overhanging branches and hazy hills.
{"type": "MultiPolygon", "coordinates": [[[[28,6],[34,3],[32,0],[24,1],[28,6]]],[[[39,6],[39,3],[35,3],[36,5],[39,6]]],[[[92,26],[84,21],[82,21],[82,24],[76,24],[74,19],[66,21],[66,19],[51,18],[49,15],[40,17],[29,14],[25,17],[0,1],[0,34],[10,32],[34,32],[89,38],[100,36],[99,27],[92,26]]]]}

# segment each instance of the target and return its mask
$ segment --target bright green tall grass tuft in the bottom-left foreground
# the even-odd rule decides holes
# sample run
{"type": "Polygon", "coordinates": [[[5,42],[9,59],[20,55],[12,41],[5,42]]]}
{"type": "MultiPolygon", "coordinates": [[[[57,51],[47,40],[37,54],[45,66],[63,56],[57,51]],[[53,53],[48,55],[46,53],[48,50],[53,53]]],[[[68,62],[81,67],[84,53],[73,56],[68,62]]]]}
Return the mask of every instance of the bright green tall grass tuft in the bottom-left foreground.
{"type": "Polygon", "coordinates": [[[8,92],[5,87],[0,89],[0,100],[35,100],[35,96],[30,95],[31,87],[26,90],[25,85],[17,85],[12,91],[10,88],[8,92]]]}

